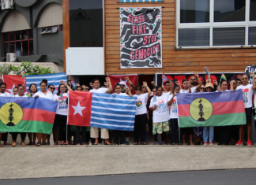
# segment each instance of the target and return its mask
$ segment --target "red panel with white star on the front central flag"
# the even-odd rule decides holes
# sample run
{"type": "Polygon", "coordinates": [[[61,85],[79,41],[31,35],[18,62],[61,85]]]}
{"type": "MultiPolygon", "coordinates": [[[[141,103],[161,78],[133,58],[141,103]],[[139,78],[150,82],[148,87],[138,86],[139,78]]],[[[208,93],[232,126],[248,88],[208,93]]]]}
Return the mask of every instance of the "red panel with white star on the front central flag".
{"type": "Polygon", "coordinates": [[[92,92],[69,91],[68,124],[89,127],[92,109],[92,92]]]}

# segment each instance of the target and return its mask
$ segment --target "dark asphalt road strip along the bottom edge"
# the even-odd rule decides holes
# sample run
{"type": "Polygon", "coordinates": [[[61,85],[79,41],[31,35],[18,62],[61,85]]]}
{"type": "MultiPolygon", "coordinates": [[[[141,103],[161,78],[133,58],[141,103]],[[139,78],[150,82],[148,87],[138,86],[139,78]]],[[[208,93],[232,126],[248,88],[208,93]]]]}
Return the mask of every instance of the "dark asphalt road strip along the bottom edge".
{"type": "Polygon", "coordinates": [[[99,184],[99,185],[162,185],[162,184],[202,184],[202,185],[246,185],[255,184],[256,169],[216,170],[198,172],[164,172],[122,176],[83,176],[44,179],[0,180],[1,185],[65,185],[65,184],[99,184]]]}

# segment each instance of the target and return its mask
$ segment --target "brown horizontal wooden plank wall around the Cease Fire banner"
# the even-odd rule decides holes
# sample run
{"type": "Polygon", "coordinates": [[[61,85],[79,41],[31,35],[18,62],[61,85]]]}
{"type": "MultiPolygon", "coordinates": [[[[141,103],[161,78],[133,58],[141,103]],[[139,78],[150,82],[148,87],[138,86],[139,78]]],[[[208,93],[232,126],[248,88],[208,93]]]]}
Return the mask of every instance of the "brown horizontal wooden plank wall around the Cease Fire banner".
{"type": "Polygon", "coordinates": [[[256,62],[254,48],[175,50],[175,0],[164,2],[117,3],[117,0],[105,0],[105,37],[106,37],[106,73],[107,74],[155,74],[156,72],[205,72],[203,66],[209,66],[211,72],[243,72],[247,65],[256,62]],[[164,6],[163,26],[163,68],[120,69],[120,23],[119,7],[164,6]]]}

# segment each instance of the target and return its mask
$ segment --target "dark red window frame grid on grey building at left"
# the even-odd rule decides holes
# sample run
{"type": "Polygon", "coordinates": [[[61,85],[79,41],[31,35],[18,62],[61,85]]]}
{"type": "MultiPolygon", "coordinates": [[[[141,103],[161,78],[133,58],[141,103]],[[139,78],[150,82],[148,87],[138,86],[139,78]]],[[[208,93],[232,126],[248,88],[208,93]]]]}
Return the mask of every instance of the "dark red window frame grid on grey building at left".
{"type": "MultiPolygon", "coordinates": [[[[30,55],[30,51],[29,51],[29,41],[31,41],[31,40],[33,41],[34,37],[32,39],[29,39],[29,30],[17,30],[17,31],[27,31],[28,39],[21,39],[21,40],[17,40],[16,39],[16,32],[17,31],[9,31],[9,32],[2,33],[2,57],[6,57],[5,56],[5,47],[4,47],[5,43],[8,43],[8,45],[9,45],[9,43],[14,43],[14,53],[16,54],[16,43],[17,42],[21,42],[21,44],[22,44],[22,42],[24,42],[24,41],[28,42],[28,55],[23,55],[22,54],[21,56],[17,56],[17,57],[32,56],[32,55],[30,55]],[[12,32],[14,33],[14,40],[13,41],[9,41],[9,33],[12,33],[12,32]],[[8,41],[4,41],[4,34],[6,34],[6,33],[8,34],[8,41]]],[[[8,53],[10,53],[10,52],[8,52],[8,53]]]]}

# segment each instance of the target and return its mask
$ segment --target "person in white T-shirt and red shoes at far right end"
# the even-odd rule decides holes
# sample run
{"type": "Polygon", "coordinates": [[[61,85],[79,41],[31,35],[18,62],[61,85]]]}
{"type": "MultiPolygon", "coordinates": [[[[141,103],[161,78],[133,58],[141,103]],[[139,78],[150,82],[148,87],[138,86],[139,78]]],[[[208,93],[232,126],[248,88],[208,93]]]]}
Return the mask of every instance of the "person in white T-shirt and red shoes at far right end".
{"type": "MultiPolygon", "coordinates": [[[[254,72],[250,72],[250,76],[253,78],[253,84],[249,84],[249,77],[247,74],[243,74],[242,76],[242,85],[237,87],[236,89],[242,89],[243,91],[243,103],[245,107],[246,117],[247,117],[247,146],[251,146],[252,143],[250,141],[251,136],[251,119],[252,119],[252,96],[254,90],[256,90],[256,82],[254,77],[254,72]]],[[[243,145],[243,132],[244,132],[244,125],[241,124],[239,126],[239,141],[236,143],[237,146],[243,145]]]]}

